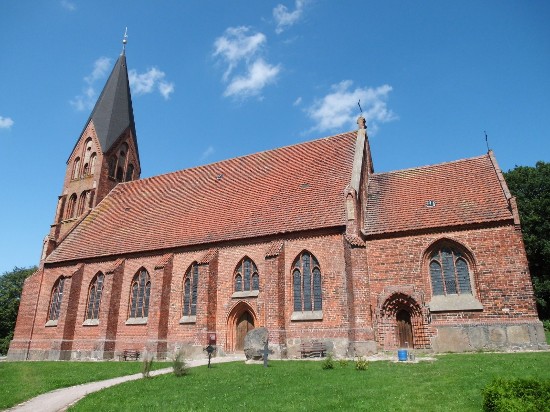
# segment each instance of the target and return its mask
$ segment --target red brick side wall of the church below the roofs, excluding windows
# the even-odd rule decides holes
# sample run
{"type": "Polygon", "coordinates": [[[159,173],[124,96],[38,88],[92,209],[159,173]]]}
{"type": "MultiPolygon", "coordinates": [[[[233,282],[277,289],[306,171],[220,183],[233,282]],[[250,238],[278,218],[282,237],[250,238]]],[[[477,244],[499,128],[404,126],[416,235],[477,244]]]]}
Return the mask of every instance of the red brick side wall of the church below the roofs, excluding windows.
{"type": "Polygon", "coordinates": [[[418,316],[413,323],[424,328],[428,347],[440,326],[537,320],[521,233],[511,225],[369,240],[366,248],[350,246],[340,233],[287,237],[274,253],[272,241],[241,241],[215,250],[144,254],[46,268],[42,286],[41,272],[25,283],[10,353],[13,357],[24,353],[32,339],[31,358],[66,358],[62,349],[72,358],[110,358],[124,349],[164,356],[178,348],[191,356],[204,356],[207,332],[216,332],[218,346],[227,352],[234,347],[235,316],[247,308],[255,326],[268,327],[270,344],[278,355],[299,356],[299,343],[311,339],[326,341],[336,355],[362,354],[377,350],[375,340],[378,349],[395,347],[395,325],[380,319],[384,300],[395,291],[416,300],[418,316]],[[483,304],[482,311],[427,311],[431,282],[425,254],[442,238],[471,252],[474,295],[483,304]],[[321,267],[322,320],[291,320],[291,269],[304,250],[312,253],[321,267]],[[272,253],[266,257],[268,251],[272,253]],[[260,293],[257,297],[233,298],[235,268],[245,256],[258,268],[260,293]],[[180,324],[183,277],[193,262],[199,262],[196,322],[180,324]],[[152,282],[149,319],[145,325],[131,325],[126,322],[130,285],[142,267],[152,282]],[[90,282],[100,271],[105,274],[105,283],[99,323],[86,326],[83,323],[90,282]],[[70,276],[65,283],[60,318],[57,326],[46,327],[52,287],[59,276],[70,276]]]}

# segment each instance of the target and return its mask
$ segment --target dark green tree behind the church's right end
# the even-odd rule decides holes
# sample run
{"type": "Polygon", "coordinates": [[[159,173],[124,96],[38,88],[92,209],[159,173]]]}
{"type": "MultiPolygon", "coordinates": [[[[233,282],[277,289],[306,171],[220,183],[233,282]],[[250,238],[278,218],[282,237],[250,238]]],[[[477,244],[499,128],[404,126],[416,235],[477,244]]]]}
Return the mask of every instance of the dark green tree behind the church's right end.
{"type": "Polygon", "coordinates": [[[539,317],[550,319],[550,163],[516,166],[504,177],[517,199],[539,317]]]}

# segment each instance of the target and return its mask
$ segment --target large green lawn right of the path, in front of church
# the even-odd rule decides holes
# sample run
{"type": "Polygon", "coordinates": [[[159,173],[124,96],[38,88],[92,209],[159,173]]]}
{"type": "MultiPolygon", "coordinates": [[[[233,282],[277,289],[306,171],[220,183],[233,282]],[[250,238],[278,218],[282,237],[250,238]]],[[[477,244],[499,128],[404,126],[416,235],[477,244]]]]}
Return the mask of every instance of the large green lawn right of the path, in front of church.
{"type": "Polygon", "coordinates": [[[495,377],[550,379],[550,352],[438,356],[418,364],[271,361],[194,368],[90,394],[71,411],[479,411],[481,390],[495,377]]]}

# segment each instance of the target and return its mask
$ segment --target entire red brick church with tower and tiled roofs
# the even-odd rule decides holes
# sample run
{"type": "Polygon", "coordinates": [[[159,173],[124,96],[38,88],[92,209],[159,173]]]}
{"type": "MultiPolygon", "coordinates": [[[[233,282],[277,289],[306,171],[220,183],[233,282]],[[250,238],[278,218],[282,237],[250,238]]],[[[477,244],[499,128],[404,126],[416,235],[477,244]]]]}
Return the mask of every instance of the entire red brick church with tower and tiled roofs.
{"type": "Polygon", "coordinates": [[[545,347],[492,152],[375,173],[358,130],[140,179],[126,56],[67,161],[10,359],[545,347]]]}

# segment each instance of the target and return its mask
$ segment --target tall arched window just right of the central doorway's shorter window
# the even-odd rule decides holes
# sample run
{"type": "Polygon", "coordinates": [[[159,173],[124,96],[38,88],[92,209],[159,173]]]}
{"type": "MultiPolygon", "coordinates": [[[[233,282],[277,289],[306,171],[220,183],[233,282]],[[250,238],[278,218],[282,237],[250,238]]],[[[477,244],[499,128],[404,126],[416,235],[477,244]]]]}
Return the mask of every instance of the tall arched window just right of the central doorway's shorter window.
{"type": "Polygon", "coordinates": [[[309,252],[302,252],[292,265],[292,289],[295,312],[323,309],[321,267],[309,252]]]}

